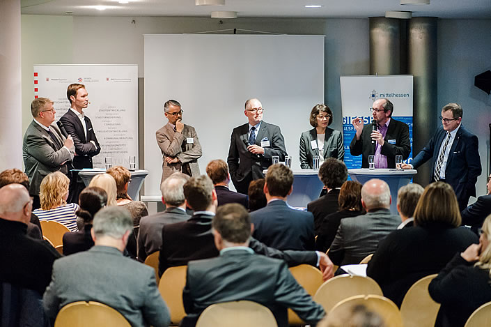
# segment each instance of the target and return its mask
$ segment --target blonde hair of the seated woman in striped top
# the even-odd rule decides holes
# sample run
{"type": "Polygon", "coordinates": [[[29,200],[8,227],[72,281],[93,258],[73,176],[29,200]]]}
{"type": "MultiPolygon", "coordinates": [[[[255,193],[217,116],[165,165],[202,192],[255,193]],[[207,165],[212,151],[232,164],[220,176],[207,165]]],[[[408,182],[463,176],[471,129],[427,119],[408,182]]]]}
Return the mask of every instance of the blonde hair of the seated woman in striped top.
{"type": "Polygon", "coordinates": [[[64,199],[68,193],[70,179],[62,172],[52,172],[42,178],[39,199],[42,210],[52,210],[62,204],[66,204],[64,199]]]}

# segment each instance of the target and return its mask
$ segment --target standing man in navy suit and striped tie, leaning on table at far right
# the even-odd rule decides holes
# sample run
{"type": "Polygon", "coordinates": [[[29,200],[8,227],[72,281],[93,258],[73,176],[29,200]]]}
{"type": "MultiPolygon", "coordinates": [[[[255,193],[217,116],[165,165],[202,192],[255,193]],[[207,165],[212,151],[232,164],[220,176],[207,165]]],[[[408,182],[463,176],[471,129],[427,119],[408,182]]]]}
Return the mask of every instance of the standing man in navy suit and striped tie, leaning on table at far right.
{"type": "Polygon", "coordinates": [[[403,169],[417,169],[432,158],[430,183],[449,183],[457,196],[460,211],[467,208],[469,197],[476,197],[476,181],[481,175],[481,158],[476,135],[462,126],[463,110],[458,103],[442,108],[442,127],[430,142],[403,169]]]}

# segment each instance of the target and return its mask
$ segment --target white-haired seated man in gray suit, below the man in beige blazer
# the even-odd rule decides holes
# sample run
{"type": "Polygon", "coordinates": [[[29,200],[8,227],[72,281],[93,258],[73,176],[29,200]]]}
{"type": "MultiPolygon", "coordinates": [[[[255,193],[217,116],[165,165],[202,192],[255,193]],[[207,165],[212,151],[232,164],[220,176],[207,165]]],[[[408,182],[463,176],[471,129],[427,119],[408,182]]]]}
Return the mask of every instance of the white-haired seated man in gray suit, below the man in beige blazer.
{"type": "Polygon", "coordinates": [[[160,249],[164,225],[189,219],[190,216],[186,213],[183,189],[188,180],[189,176],[186,174],[175,172],[160,185],[162,203],[166,209],[164,212],[141,218],[137,245],[139,261],[145,261],[148,255],[160,249]]]}

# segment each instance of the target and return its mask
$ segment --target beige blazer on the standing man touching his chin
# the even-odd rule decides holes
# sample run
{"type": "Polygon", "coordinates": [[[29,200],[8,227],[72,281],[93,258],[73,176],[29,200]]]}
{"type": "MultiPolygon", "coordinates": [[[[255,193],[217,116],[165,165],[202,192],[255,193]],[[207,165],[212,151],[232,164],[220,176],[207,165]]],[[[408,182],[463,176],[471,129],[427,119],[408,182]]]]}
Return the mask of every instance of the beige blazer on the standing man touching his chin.
{"type": "MultiPolygon", "coordinates": [[[[170,123],[155,132],[157,144],[162,151],[162,180],[171,176],[175,172],[183,171],[182,166],[189,166],[190,176],[199,176],[198,158],[201,158],[201,144],[194,127],[184,125],[182,132],[176,132],[170,123]],[[188,143],[187,139],[193,139],[193,143],[188,143]],[[168,164],[165,158],[179,158],[180,162],[168,164]]],[[[185,166],[185,169],[187,167],[185,166]]]]}

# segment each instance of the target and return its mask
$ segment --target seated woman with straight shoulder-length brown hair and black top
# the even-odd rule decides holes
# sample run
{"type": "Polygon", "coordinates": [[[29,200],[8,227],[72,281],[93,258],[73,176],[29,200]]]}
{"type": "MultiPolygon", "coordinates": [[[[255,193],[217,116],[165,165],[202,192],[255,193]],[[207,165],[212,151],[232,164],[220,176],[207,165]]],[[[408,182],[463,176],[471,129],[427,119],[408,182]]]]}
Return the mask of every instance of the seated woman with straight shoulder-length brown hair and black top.
{"type": "Polygon", "coordinates": [[[451,185],[426,186],[414,211],[414,226],[393,231],[368,262],[366,274],[382,288],[384,296],[400,306],[407,290],[422,277],[438,273],[455,252],[478,238],[460,227],[460,212],[451,185]]]}

